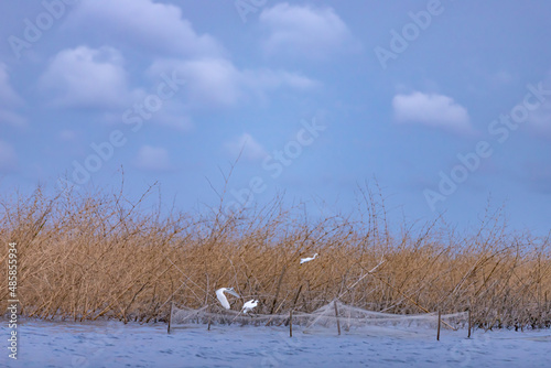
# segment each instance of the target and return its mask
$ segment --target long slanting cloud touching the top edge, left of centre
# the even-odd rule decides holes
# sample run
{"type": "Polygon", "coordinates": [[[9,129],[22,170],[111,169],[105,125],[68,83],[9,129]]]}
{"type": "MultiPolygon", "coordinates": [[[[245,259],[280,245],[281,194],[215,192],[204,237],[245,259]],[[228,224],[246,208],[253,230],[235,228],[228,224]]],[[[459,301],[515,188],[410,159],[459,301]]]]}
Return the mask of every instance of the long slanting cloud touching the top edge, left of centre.
{"type": "Polygon", "coordinates": [[[214,37],[194,31],[179,7],[151,0],[83,0],[65,26],[100,30],[108,37],[104,42],[129,43],[165,55],[213,56],[224,52],[214,37]]]}

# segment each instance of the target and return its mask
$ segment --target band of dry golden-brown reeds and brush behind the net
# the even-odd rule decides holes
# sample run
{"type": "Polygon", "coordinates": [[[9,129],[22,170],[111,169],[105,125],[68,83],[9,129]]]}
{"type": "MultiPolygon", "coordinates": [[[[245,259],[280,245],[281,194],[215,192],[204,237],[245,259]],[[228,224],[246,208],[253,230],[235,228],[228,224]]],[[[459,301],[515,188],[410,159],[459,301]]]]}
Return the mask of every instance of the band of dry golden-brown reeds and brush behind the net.
{"type": "MultiPolygon", "coordinates": [[[[162,216],[122,193],[37,188],[2,199],[0,259],[18,242],[21,313],[40,318],[163,321],[171,297],[197,307],[234,286],[260,299],[261,313],[311,312],[339,297],[391,313],[471,309],[484,328],[551,325],[549,238],[509,231],[499,215],[468,236],[441,221],[392,232],[381,197],[361,195],[359,219],[312,220],[278,199],[229,217],[219,208],[162,216]]],[[[3,310],[7,300],[2,288],[3,310]]]]}

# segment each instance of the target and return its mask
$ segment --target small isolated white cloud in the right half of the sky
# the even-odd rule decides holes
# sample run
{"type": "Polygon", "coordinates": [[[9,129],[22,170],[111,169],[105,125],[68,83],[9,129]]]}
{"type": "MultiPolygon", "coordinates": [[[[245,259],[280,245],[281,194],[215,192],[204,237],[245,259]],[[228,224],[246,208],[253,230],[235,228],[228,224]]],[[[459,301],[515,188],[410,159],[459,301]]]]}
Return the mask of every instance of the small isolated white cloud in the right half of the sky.
{"type": "Polygon", "coordinates": [[[453,98],[414,91],[392,99],[395,118],[401,123],[420,123],[458,133],[473,133],[467,110],[453,98]]]}

